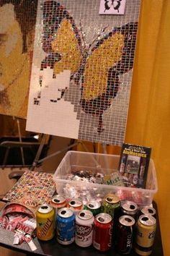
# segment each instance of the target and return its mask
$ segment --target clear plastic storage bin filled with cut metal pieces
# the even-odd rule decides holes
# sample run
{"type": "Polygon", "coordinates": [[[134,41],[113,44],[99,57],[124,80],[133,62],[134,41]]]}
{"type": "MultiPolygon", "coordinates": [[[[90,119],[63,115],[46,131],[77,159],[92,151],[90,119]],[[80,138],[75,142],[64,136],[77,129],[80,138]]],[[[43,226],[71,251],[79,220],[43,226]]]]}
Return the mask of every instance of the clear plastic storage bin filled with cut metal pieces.
{"type": "Polygon", "coordinates": [[[114,193],[120,197],[120,200],[133,200],[138,205],[150,205],[153,195],[158,190],[152,159],[148,168],[146,189],[68,180],[68,174],[74,174],[76,171],[112,174],[117,171],[119,161],[120,155],[68,151],[54,174],[56,190],[58,194],[66,197],[79,197],[84,203],[91,199],[101,200],[108,193],[114,193]]]}

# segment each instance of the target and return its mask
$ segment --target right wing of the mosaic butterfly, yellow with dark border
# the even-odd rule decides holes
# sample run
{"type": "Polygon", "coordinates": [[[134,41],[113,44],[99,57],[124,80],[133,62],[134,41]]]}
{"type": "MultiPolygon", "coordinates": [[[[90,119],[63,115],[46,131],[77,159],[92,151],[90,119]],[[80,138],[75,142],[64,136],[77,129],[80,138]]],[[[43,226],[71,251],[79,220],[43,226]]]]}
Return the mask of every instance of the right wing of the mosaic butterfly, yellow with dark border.
{"type": "MultiPolygon", "coordinates": [[[[138,22],[115,28],[97,41],[84,66],[81,107],[99,115],[111,105],[119,89],[119,75],[133,68],[138,22]]],[[[101,132],[99,124],[98,132],[101,132]]]]}

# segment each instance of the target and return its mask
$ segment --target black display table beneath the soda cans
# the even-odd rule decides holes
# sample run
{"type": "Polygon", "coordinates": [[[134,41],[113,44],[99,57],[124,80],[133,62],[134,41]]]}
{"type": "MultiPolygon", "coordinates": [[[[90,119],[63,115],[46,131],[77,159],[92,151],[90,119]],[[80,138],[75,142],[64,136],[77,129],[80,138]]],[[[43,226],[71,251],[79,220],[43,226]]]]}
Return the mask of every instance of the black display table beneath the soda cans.
{"type": "MultiPolygon", "coordinates": [[[[153,202],[153,207],[156,208],[156,203],[153,202]]],[[[158,216],[158,214],[157,214],[158,216]]],[[[76,244],[70,244],[67,246],[63,246],[61,244],[58,244],[56,241],[56,238],[54,237],[48,242],[41,242],[37,238],[34,239],[34,242],[36,244],[37,250],[35,252],[32,252],[27,244],[23,243],[20,245],[13,245],[14,240],[14,233],[11,231],[6,231],[4,229],[0,229],[0,246],[6,247],[9,249],[14,249],[18,252],[24,252],[27,255],[51,255],[51,256],[98,256],[98,255],[108,255],[108,256],[118,256],[119,254],[115,252],[115,249],[112,248],[109,250],[109,252],[102,253],[98,252],[97,249],[94,249],[94,247],[88,247],[88,248],[82,248],[78,247],[76,244]]],[[[137,255],[135,252],[131,252],[131,255],[137,255]]],[[[163,248],[162,248],[162,242],[161,242],[161,232],[160,232],[160,226],[159,221],[157,220],[157,228],[156,228],[156,238],[154,241],[153,246],[153,252],[151,254],[152,256],[163,256],[163,248]]]]}

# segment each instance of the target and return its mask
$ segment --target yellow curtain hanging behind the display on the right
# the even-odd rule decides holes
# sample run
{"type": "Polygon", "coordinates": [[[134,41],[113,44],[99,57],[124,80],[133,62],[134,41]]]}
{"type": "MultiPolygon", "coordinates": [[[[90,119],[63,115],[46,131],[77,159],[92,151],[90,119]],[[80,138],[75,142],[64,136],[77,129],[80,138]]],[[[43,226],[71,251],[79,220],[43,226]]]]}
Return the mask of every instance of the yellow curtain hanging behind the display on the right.
{"type": "Polygon", "coordinates": [[[170,1],[143,0],[125,142],[150,146],[164,255],[170,255],[170,1]]]}

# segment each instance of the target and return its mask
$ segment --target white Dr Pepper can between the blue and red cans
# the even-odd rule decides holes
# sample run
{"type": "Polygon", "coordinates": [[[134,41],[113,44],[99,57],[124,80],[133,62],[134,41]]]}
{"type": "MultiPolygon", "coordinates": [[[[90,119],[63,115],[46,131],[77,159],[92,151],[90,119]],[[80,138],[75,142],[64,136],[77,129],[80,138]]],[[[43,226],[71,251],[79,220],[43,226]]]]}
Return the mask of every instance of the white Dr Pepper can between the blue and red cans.
{"type": "Polygon", "coordinates": [[[94,216],[89,210],[81,210],[76,215],[75,242],[80,247],[89,247],[93,242],[94,216]]]}

